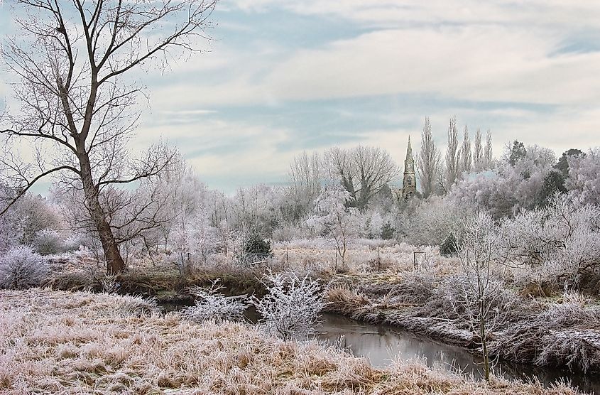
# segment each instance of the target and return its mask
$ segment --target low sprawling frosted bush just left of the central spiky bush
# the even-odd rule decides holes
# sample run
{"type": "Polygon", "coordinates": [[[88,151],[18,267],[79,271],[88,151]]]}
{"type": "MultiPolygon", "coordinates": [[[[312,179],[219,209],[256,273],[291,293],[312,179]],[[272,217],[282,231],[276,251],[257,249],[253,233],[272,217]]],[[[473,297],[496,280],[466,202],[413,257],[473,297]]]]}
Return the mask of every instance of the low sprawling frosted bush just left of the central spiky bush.
{"type": "Polygon", "coordinates": [[[210,288],[192,287],[190,294],[195,297],[195,305],[185,308],[182,314],[187,320],[202,323],[206,320],[244,320],[244,311],[248,308],[249,298],[246,295],[224,296],[219,293],[224,287],[219,280],[210,288]]]}

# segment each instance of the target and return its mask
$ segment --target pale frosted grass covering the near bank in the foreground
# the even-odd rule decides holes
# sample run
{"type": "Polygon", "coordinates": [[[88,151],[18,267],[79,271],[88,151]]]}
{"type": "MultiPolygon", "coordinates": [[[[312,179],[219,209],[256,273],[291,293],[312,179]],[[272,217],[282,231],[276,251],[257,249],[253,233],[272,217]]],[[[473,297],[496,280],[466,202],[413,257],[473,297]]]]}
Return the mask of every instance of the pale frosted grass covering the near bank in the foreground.
{"type": "Polygon", "coordinates": [[[315,342],[182,320],[129,296],[0,291],[0,394],[578,394],[422,364],[373,369],[315,342]]]}

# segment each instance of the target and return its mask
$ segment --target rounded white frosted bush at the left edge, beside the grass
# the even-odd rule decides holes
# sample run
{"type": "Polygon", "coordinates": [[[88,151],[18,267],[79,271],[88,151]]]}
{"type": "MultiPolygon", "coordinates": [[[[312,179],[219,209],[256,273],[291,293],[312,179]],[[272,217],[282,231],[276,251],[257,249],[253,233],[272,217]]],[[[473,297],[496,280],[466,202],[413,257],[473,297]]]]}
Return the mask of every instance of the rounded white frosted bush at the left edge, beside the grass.
{"type": "Polygon", "coordinates": [[[0,288],[39,286],[48,275],[45,259],[31,247],[12,247],[0,257],[0,288]]]}

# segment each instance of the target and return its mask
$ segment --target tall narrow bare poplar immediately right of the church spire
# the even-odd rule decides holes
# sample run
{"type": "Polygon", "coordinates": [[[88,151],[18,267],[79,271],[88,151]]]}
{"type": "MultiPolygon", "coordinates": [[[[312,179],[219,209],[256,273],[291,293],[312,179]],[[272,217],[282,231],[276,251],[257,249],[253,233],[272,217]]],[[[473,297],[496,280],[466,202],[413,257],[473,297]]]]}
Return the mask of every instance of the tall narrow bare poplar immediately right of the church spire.
{"type": "Polygon", "coordinates": [[[435,192],[435,183],[440,176],[441,168],[442,154],[433,141],[429,117],[425,117],[425,125],[421,133],[421,151],[417,158],[417,172],[423,198],[427,198],[435,192]]]}

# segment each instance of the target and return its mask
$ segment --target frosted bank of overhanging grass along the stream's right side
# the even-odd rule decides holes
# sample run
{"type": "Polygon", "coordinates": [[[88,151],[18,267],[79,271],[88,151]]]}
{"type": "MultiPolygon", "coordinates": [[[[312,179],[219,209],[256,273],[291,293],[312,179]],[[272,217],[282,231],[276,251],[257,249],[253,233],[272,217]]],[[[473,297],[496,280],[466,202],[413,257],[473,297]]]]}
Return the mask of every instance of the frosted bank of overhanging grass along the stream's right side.
{"type": "MultiPolygon", "coordinates": [[[[448,282],[427,271],[341,275],[327,293],[328,310],[479,352],[478,333],[455,308],[452,298],[456,295],[451,294],[448,282]]],[[[569,291],[550,298],[523,297],[511,289],[499,292],[503,295],[492,306],[497,314],[488,324],[492,357],[587,374],[600,372],[597,299],[569,291]]]]}

